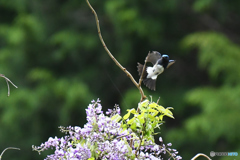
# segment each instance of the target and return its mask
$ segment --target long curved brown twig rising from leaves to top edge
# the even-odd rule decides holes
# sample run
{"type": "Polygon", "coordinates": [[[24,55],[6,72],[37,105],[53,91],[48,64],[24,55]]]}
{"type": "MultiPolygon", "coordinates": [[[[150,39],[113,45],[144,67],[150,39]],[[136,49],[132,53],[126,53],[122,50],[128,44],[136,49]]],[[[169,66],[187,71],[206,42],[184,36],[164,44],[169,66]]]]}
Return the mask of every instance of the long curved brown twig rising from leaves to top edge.
{"type": "Polygon", "coordinates": [[[102,34],[101,34],[101,30],[100,30],[100,25],[99,25],[99,19],[98,19],[98,16],[97,16],[97,13],[96,11],[93,9],[93,7],[91,6],[91,4],[89,3],[88,0],[86,0],[88,6],[90,7],[90,9],[92,10],[94,16],[95,16],[95,20],[96,20],[96,25],[97,25],[97,31],[98,31],[98,36],[99,36],[99,39],[101,40],[102,42],[102,45],[104,47],[104,49],[106,50],[106,52],[108,53],[108,55],[112,58],[112,60],[116,63],[116,65],[123,71],[127,74],[127,76],[131,79],[131,81],[133,82],[133,84],[138,88],[140,94],[141,94],[141,101],[143,101],[146,96],[144,95],[144,92],[141,88],[141,86],[138,85],[138,83],[135,81],[135,79],[133,78],[133,76],[127,71],[126,68],[124,68],[115,58],[114,56],[112,55],[112,53],[108,50],[103,38],[102,38],[102,34]]]}

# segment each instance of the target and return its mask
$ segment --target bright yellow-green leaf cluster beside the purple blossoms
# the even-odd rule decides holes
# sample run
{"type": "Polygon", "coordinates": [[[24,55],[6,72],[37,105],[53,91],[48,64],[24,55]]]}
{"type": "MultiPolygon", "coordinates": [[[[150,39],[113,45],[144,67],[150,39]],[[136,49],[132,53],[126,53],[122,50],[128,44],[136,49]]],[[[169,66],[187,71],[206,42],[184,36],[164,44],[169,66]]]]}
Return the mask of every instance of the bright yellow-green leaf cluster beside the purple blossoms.
{"type": "Polygon", "coordinates": [[[139,103],[138,109],[138,111],[134,108],[127,110],[127,114],[122,118],[122,127],[124,129],[130,128],[136,135],[142,136],[143,139],[154,141],[153,135],[157,134],[154,130],[160,128],[160,125],[163,124],[163,117],[174,118],[170,111],[173,108],[165,109],[155,102],[149,102],[148,99],[139,103]]]}

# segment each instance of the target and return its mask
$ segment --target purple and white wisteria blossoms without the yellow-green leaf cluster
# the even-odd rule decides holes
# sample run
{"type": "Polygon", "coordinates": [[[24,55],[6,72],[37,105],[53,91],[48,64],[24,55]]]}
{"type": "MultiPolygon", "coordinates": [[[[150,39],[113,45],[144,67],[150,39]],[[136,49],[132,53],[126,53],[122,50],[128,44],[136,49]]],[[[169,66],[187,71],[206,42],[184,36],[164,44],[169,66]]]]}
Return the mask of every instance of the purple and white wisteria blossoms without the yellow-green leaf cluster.
{"type": "MultiPolygon", "coordinates": [[[[150,140],[143,140],[131,129],[121,127],[120,108],[109,109],[106,115],[102,111],[100,101],[92,101],[86,109],[87,123],[83,128],[60,127],[66,133],[62,138],[50,137],[33,150],[39,154],[47,149],[55,149],[54,154],[45,159],[51,160],[158,160],[164,155],[172,159],[182,159],[175,149],[170,149],[171,143],[161,145],[150,140]]],[[[166,156],[165,156],[166,157],[166,156]]]]}

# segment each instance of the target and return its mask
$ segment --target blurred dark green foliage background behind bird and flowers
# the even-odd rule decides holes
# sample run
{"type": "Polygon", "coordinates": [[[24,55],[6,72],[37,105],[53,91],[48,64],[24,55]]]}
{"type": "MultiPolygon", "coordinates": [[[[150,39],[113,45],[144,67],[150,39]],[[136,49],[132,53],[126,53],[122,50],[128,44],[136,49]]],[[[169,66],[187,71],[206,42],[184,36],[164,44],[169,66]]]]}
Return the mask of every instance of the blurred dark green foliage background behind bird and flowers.
{"type": "MultiPolygon", "coordinates": [[[[91,0],[103,38],[138,81],[148,51],[177,62],[146,95],[174,107],[164,142],[183,159],[201,152],[240,154],[240,1],[91,0]]],[[[83,126],[85,109],[137,107],[140,94],[105,52],[84,0],[0,0],[0,151],[3,160],[43,159],[32,145],[63,136],[58,126],[83,126]]],[[[214,157],[213,159],[239,159],[214,157]]],[[[201,158],[199,158],[201,159],[201,158]]]]}

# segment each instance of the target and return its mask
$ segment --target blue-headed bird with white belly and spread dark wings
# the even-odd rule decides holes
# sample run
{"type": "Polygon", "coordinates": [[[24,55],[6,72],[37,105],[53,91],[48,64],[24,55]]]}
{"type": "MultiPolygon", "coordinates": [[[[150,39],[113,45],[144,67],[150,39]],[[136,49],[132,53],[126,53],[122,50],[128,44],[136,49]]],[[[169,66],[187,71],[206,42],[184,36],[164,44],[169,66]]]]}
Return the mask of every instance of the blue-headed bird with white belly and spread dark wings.
{"type": "Polygon", "coordinates": [[[144,65],[138,63],[138,73],[142,76],[143,83],[151,90],[156,90],[157,77],[163,73],[166,68],[169,68],[175,63],[175,60],[169,60],[169,56],[166,54],[161,55],[158,51],[149,52],[146,57],[146,63],[151,62],[152,67],[146,66],[143,71],[144,65]]]}

